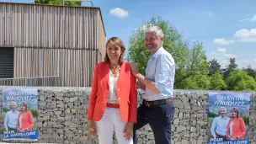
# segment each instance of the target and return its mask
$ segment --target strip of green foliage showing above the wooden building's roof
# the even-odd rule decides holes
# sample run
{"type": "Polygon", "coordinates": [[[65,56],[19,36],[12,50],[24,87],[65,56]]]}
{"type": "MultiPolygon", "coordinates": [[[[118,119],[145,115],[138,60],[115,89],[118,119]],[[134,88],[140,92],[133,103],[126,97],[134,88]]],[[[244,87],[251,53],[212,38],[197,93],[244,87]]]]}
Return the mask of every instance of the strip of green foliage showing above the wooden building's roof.
{"type": "MultiPolygon", "coordinates": [[[[51,4],[51,5],[63,5],[62,0],[35,0],[35,3],[51,4]]],[[[66,1],[65,5],[68,6],[81,6],[82,2],[66,1]]]]}

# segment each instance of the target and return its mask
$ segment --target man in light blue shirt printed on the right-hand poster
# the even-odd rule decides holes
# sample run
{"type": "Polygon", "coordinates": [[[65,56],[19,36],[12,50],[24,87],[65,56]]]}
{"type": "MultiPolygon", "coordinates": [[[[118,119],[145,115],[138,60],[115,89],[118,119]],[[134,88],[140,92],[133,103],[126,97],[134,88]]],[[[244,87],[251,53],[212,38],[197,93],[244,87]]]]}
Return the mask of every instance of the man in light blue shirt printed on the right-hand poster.
{"type": "Polygon", "coordinates": [[[227,109],[221,106],[219,110],[220,116],[214,118],[212,121],[211,135],[213,138],[223,138],[223,140],[227,140],[226,132],[229,121],[229,118],[226,116],[227,109]]]}

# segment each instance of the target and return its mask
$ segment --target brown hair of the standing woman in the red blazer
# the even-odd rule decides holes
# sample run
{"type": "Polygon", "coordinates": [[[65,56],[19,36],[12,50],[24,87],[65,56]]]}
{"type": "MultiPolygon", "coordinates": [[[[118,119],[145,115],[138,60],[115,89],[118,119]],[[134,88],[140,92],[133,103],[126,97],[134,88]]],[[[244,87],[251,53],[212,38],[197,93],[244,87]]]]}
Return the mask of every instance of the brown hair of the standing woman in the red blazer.
{"type": "MultiPolygon", "coordinates": [[[[115,47],[120,47],[120,49],[121,49],[121,55],[120,55],[120,58],[119,58],[119,64],[121,65],[122,63],[123,63],[123,61],[124,61],[124,54],[125,54],[125,45],[124,45],[124,43],[123,43],[123,41],[122,40],[120,40],[120,38],[119,37],[111,37],[108,41],[107,41],[107,43],[106,43],[106,48],[107,48],[107,45],[113,45],[113,46],[115,46],[115,47]]],[[[106,51],[106,55],[105,55],[105,57],[104,57],[104,61],[106,62],[106,63],[109,63],[109,56],[108,56],[108,53],[107,53],[107,51],[106,51]]]]}

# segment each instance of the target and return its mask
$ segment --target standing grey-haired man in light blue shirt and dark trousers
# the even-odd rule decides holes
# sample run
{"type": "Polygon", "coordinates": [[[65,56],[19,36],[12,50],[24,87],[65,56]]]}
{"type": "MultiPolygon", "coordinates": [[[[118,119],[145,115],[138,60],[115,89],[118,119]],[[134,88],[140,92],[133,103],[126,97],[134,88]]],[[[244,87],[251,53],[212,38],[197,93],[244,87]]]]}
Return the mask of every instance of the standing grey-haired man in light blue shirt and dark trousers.
{"type": "Polygon", "coordinates": [[[146,29],[146,47],[152,54],[147,61],[146,77],[139,72],[136,64],[131,64],[131,70],[138,79],[137,86],[145,91],[137,110],[133,140],[136,144],[136,130],[149,124],[156,144],[170,144],[175,111],[172,99],[175,63],[168,51],[163,49],[163,31],[157,26],[146,29]]]}

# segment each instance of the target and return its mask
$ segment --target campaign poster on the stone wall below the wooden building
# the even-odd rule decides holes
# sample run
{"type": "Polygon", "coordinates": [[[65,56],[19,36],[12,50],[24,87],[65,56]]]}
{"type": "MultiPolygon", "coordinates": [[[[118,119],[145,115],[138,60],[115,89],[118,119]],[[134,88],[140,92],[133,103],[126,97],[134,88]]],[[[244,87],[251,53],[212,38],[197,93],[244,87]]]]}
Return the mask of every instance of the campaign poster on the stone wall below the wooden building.
{"type": "Polygon", "coordinates": [[[3,89],[3,141],[37,141],[37,88],[3,89]]]}

